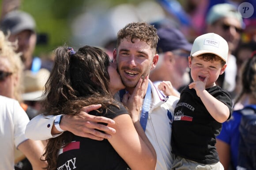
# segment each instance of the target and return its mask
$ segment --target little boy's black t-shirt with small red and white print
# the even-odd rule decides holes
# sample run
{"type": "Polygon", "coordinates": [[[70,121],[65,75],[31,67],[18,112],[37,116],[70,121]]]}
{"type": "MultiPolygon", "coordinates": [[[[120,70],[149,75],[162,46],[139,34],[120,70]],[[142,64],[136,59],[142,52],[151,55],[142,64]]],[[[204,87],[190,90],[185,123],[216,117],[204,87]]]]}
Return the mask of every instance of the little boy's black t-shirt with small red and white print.
{"type": "MultiPolygon", "coordinates": [[[[206,89],[213,97],[232,110],[232,98],[219,86],[206,89]]],[[[230,118],[229,116],[229,118],[230,118]]],[[[219,161],[215,147],[216,136],[222,123],[218,123],[207,111],[195,89],[186,87],[174,110],[172,125],[172,152],[197,163],[211,164],[219,161]]]]}

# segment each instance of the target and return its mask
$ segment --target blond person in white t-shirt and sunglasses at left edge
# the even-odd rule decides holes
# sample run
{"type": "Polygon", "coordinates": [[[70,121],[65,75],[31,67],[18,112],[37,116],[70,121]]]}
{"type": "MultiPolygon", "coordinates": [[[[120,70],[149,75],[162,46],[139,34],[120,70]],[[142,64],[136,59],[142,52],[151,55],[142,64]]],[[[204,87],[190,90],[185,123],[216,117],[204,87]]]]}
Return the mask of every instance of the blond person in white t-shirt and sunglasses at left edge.
{"type": "Polygon", "coordinates": [[[33,170],[40,170],[47,165],[40,160],[44,145],[25,137],[29,117],[20,105],[23,64],[14,47],[0,31],[0,165],[4,170],[18,170],[15,162],[27,158],[33,170]]]}

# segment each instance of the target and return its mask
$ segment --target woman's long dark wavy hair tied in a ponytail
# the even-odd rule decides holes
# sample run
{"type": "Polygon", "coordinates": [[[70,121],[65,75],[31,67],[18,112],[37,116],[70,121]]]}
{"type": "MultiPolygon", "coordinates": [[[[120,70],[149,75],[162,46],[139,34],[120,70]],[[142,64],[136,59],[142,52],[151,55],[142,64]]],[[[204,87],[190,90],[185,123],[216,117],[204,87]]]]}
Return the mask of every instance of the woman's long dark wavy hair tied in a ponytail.
{"type": "MultiPolygon", "coordinates": [[[[118,107],[109,90],[109,56],[97,47],[85,46],[71,53],[68,47],[54,51],[55,60],[49,79],[45,84],[41,101],[44,115],[79,113],[87,105],[102,104],[98,113],[105,113],[109,105],[118,107]]],[[[103,115],[102,115],[103,116],[103,115]]],[[[58,150],[68,145],[72,133],[65,131],[59,137],[51,138],[45,149],[46,169],[55,170],[58,150]]]]}

